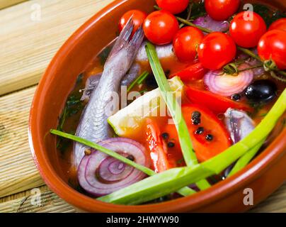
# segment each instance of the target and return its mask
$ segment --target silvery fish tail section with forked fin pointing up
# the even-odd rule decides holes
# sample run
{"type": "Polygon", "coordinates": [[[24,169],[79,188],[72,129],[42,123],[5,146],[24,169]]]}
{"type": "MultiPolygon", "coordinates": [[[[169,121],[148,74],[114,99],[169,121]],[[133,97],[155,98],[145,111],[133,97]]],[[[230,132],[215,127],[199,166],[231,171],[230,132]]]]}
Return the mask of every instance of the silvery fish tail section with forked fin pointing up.
{"type": "MultiPolygon", "coordinates": [[[[96,143],[110,137],[107,118],[114,113],[109,109],[110,113],[107,113],[106,106],[113,101],[114,92],[118,92],[120,81],[130,69],[144,38],[142,28],[139,28],[131,38],[133,28],[132,18],[130,18],[105,62],[101,79],[96,89],[91,93],[76,129],[76,135],[81,138],[96,143]]],[[[75,143],[74,165],[76,167],[79,166],[82,157],[84,157],[85,150],[84,145],[75,143]]]]}

